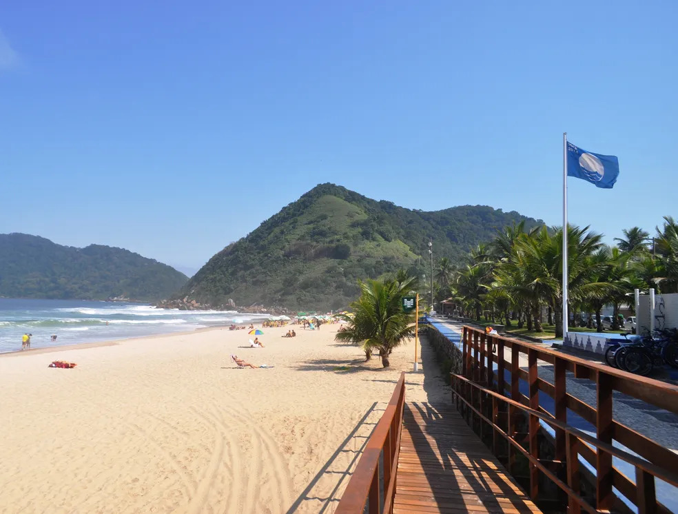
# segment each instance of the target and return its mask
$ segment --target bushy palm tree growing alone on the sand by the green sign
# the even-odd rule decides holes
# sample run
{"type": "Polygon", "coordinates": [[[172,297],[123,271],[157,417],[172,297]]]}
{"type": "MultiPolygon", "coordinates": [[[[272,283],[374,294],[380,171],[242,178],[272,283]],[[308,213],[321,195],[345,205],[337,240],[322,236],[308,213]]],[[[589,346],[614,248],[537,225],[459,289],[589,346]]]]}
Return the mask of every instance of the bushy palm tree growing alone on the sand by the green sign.
{"type": "Polygon", "coordinates": [[[351,303],[353,318],[344,318],[346,329],[338,332],[335,340],[359,343],[366,355],[377,350],[382,366],[389,367],[393,349],[414,333],[416,313],[404,312],[401,305],[402,297],[412,289],[413,280],[360,282],[362,294],[351,303]]]}

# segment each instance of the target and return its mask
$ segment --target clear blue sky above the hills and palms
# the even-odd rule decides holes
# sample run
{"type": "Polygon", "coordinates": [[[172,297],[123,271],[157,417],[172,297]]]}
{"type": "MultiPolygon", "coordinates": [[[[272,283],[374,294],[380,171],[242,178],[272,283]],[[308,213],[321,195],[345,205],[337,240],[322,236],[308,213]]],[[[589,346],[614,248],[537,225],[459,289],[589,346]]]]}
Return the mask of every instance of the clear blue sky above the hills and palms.
{"type": "Polygon", "coordinates": [[[198,268],[318,183],[562,223],[678,216],[675,1],[6,2],[0,233],[198,268]]]}

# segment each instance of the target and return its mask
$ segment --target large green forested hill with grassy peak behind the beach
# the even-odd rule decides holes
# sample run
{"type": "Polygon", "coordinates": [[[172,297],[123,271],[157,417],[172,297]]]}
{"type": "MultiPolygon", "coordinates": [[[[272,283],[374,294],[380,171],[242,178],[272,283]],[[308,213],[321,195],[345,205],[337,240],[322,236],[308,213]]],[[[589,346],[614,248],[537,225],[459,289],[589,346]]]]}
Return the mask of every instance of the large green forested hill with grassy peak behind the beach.
{"type": "Polygon", "coordinates": [[[542,223],[484,206],[405,209],[321,184],[212,257],[174,298],[338,309],[356,298],[359,278],[399,268],[428,275],[429,238],[436,259],[455,260],[523,219],[528,227],[542,223]]]}

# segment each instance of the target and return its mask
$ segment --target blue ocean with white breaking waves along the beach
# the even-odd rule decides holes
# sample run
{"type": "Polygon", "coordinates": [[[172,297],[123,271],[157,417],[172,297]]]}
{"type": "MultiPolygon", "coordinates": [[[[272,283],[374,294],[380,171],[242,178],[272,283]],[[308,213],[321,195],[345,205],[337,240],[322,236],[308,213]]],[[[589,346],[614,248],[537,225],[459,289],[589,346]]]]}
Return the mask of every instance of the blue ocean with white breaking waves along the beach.
{"type": "Polygon", "coordinates": [[[261,322],[268,316],[236,311],[178,311],[150,305],[85,300],[0,298],[0,353],[189,331],[232,323],[261,322]],[[52,342],[51,336],[56,336],[52,342]]]}

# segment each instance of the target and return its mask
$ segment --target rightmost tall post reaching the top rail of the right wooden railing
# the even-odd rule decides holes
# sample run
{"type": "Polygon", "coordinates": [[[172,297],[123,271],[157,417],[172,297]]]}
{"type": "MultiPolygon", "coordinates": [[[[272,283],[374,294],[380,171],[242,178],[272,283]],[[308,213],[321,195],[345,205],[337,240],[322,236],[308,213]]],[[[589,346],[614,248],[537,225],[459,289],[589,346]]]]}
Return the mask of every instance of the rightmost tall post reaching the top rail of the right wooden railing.
{"type": "MultiPolygon", "coordinates": [[[[596,373],[596,437],[612,444],[612,378],[602,371],[596,373]]],[[[599,511],[609,511],[613,503],[612,455],[598,449],[595,458],[596,503],[599,511]]]]}

